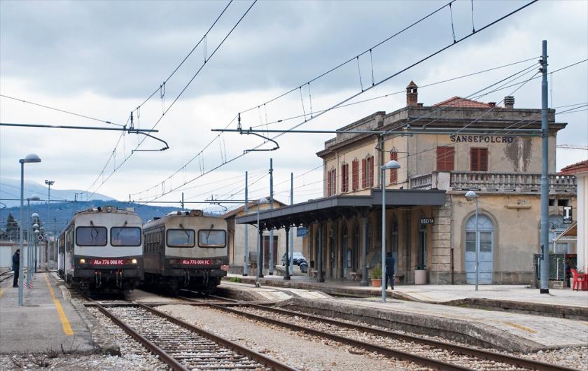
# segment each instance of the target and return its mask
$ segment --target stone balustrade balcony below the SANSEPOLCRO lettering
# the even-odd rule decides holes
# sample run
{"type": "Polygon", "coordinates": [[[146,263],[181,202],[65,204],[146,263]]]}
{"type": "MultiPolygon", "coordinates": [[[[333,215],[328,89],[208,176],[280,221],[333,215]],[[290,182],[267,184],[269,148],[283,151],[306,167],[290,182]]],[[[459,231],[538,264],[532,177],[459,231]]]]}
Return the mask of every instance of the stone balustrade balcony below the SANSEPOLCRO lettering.
{"type": "MultiPolygon", "coordinates": [[[[549,174],[549,193],[575,193],[576,187],[575,176],[549,174]]],[[[539,193],[541,190],[541,174],[432,172],[412,177],[410,179],[410,189],[539,193]]]]}

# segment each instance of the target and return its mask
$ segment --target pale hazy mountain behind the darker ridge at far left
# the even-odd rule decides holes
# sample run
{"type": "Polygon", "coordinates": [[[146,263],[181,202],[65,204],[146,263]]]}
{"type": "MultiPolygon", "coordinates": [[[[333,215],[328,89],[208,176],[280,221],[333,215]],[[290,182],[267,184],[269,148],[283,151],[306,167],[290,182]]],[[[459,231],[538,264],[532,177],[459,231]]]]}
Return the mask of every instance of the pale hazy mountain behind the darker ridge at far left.
{"type": "MultiPolygon", "coordinates": [[[[34,181],[25,180],[25,202],[26,199],[37,195],[41,200],[47,199],[47,186],[45,184],[36,183],[34,181]]],[[[78,200],[85,200],[85,194],[82,190],[60,190],[59,188],[51,188],[51,200],[74,200],[78,193],[78,200]],[[81,194],[81,195],[80,195],[81,194]]],[[[0,198],[10,199],[15,198],[20,200],[20,179],[0,180],[0,198]]],[[[112,197],[94,193],[92,200],[114,200],[112,197]]],[[[6,207],[20,206],[20,201],[2,201],[6,207]]]]}

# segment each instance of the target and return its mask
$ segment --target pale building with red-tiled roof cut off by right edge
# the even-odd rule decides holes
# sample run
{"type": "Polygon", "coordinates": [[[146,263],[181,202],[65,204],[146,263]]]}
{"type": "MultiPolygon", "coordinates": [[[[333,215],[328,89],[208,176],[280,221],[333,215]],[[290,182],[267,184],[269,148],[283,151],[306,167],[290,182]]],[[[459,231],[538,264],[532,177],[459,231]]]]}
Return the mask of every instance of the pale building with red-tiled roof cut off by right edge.
{"type": "Polygon", "coordinates": [[[573,175],[577,178],[577,209],[572,209],[576,223],[561,234],[575,234],[577,241],[577,268],[588,272],[588,160],[561,169],[561,174],[573,175]],[[575,228],[574,228],[575,227],[575,228]],[[574,233],[575,232],[575,233],[574,233]]]}

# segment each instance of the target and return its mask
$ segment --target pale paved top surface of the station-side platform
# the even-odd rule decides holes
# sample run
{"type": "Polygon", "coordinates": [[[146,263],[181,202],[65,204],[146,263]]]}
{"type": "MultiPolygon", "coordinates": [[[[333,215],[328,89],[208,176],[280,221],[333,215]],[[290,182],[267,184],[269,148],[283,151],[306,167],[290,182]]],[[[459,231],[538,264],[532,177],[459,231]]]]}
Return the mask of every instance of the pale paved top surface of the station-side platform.
{"type": "MultiPolygon", "coordinates": [[[[248,283],[226,281],[223,281],[222,286],[235,290],[250,290],[255,292],[256,295],[264,293],[263,295],[267,295],[268,300],[281,300],[281,297],[318,299],[323,303],[332,303],[329,308],[337,307],[337,310],[344,311],[346,306],[350,310],[353,309],[353,313],[356,314],[368,314],[372,309],[381,309],[391,312],[389,317],[393,318],[392,321],[398,321],[398,323],[419,325],[419,321],[422,320],[422,323],[426,322],[426,326],[432,327],[433,330],[435,323],[447,326],[447,328],[460,328],[464,332],[468,332],[470,336],[495,336],[497,344],[500,344],[500,342],[513,344],[519,339],[520,342],[528,345],[527,349],[588,345],[587,321],[433,304],[433,302],[444,302],[467,297],[485,297],[494,300],[540,302],[552,305],[568,304],[586,307],[588,306],[588,293],[585,291],[582,293],[572,292],[571,290],[550,290],[551,295],[540,295],[538,290],[526,288],[525,286],[480,286],[477,293],[474,287],[469,285],[397,286],[395,291],[402,293],[402,295],[408,295],[417,301],[389,298],[386,303],[383,303],[379,301],[377,296],[363,299],[335,298],[316,291],[324,290],[325,288],[336,288],[338,293],[347,290],[352,294],[358,292],[358,290],[374,290],[372,287],[360,287],[353,282],[316,283],[306,277],[293,277],[291,286],[304,287],[304,289],[297,289],[269,286],[269,284],[283,283],[282,277],[279,276],[265,276],[265,279],[261,281],[261,288],[255,288],[248,283]],[[309,287],[314,287],[316,290],[309,287]],[[363,309],[365,311],[362,311],[363,309]],[[452,322],[455,323],[455,326],[451,326],[452,322]],[[477,334],[476,332],[479,333],[477,334]],[[500,337],[502,337],[502,340],[500,337]]],[[[317,305],[321,306],[323,304],[317,305]]],[[[351,313],[351,311],[349,312],[351,313]]],[[[377,313],[373,313],[373,315],[378,316],[377,313]]]]}

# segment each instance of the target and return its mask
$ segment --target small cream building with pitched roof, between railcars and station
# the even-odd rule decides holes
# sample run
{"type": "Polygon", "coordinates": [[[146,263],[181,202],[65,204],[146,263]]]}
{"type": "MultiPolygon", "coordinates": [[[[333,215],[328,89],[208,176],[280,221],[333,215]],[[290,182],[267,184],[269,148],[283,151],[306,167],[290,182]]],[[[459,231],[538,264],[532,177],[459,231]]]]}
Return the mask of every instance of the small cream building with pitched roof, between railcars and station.
{"type": "MultiPolygon", "coordinates": [[[[286,204],[274,199],[273,209],[285,207],[286,204]]],[[[245,260],[245,229],[247,229],[247,250],[248,262],[250,267],[257,262],[257,248],[258,248],[258,229],[257,225],[235,224],[235,218],[238,216],[252,215],[257,216],[257,203],[249,202],[247,210],[245,206],[238,207],[223,214],[222,218],[227,221],[228,228],[228,246],[229,246],[229,272],[242,274],[245,260]]],[[[261,204],[260,210],[271,209],[269,204],[261,204]]],[[[302,252],[302,242],[304,240],[304,233],[298,233],[297,229],[293,228],[292,244],[289,248],[294,248],[294,251],[302,252]],[[300,236],[297,236],[300,235],[300,236]]],[[[302,230],[301,230],[302,232],[302,230]]],[[[264,269],[269,269],[269,231],[263,233],[262,246],[264,249],[264,269]]],[[[282,255],[286,253],[286,232],[285,230],[274,231],[274,267],[282,264],[282,255]]],[[[252,273],[250,273],[252,274],[252,273]]]]}

